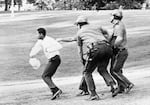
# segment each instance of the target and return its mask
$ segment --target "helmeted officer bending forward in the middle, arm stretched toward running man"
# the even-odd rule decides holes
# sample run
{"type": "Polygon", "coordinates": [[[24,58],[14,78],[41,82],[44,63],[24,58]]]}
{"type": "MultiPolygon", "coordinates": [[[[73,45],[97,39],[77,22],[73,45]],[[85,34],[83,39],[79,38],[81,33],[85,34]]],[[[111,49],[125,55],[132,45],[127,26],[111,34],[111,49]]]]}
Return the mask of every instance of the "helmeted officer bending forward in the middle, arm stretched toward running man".
{"type": "MultiPolygon", "coordinates": [[[[108,44],[105,34],[108,34],[101,26],[90,25],[87,18],[79,16],[76,20],[79,31],[77,32],[77,42],[81,61],[85,62],[82,80],[86,82],[90,92],[90,100],[98,100],[95,83],[92,73],[97,67],[101,76],[115,88],[115,83],[107,71],[109,60],[112,56],[112,48],[108,44]],[[85,56],[85,57],[84,57],[85,56]]],[[[82,81],[81,84],[84,82],[82,81]]]]}

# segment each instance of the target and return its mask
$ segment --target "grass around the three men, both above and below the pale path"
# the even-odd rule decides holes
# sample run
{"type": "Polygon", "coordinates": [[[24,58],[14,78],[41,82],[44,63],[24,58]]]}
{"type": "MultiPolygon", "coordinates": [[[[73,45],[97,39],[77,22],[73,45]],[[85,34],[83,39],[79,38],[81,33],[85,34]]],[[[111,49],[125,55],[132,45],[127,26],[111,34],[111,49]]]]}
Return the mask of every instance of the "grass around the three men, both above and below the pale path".
{"type": "MultiPolygon", "coordinates": [[[[41,79],[44,66],[47,63],[45,56],[39,53],[42,61],[40,69],[33,70],[29,65],[29,52],[36,41],[36,29],[45,27],[48,36],[54,38],[74,36],[77,28],[73,25],[78,15],[86,15],[89,22],[100,24],[112,32],[112,25],[109,22],[111,11],[49,11],[33,13],[17,13],[14,18],[9,14],[0,14],[0,83],[16,82],[41,79]]],[[[129,57],[125,64],[124,72],[136,73],[136,68],[145,67],[150,62],[150,11],[146,10],[125,10],[123,21],[127,28],[129,57]],[[130,69],[128,69],[130,68],[130,69]]],[[[75,43],[62,43],[62,63],[56,72],[55,78],[80,76],[82,65],[79,61],[75,43]]],[[[147,69],[141,69],[143,73],[147,69]]],[[[139,70],[140,71],[140,70],[139,70]]],[[[145,75],[145,74],[144,74],[145,75]]],[[[86,102],[84,98],[77,98],[72,93],[77,93],[77,84],[63,85],[66,89],[63,100],[49,100],[47,88],[26,90],[1,96],[0,105],[149,105],[149,76],[135,78],[131,75],[136,89],[129,95],[121,95],[112,99],[107,87],[103,83],[97,84],[101,91],[106,92],[106,99],[98,102],[86,102]],[[71,99],[72,98],[72,99],[71,99]]],[[[8,84],[9,85],[9,84],[8,84]]],[[[98,91],[101,93],[101,91],[98,91]]]]}

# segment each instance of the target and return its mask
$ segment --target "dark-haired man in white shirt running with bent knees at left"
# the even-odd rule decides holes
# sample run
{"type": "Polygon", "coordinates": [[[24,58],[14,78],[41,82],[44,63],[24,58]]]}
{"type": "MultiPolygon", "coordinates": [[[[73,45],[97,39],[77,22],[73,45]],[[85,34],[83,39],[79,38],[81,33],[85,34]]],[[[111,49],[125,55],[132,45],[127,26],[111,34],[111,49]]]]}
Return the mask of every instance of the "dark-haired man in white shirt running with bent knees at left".
{"type": "Polygon", "coordinates": [[[55,74],[61,63],[59,50],[62,46],[55,39],[47,36],[44,28],[38,28],[37,33],[38,40],[30,52],[30,57],[35,57],[40,50],[43,50],[47,57],[48,64],[45,67],[42,78],[52,91],[51,100],[54,100],[62,93],[62,91],[52,81],[52,76],[55,74]]]}

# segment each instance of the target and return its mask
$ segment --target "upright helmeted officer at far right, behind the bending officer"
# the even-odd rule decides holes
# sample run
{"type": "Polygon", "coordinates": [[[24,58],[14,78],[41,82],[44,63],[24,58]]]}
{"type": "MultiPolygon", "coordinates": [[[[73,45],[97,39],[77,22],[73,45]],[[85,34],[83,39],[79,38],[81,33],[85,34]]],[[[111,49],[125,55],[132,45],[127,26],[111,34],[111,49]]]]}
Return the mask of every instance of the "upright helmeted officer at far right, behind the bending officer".
{"type": "Polygon", "coordinates": [[[111,14],[111,23],[113,24],[113,34],[109,36],[109,41],[113,47],[113,57],[111,60],[110,73],[116,79],[118,83],[118,89],[112,94],[116,96],[122,90],[126,90],[128,93],[133,88],[131,83],[123,74],[122,68],[128,57],[128,50],[126,48],[127,36],[126,28],[123,22],[122,12],[120,10],[114,10],[111,14]]]}

